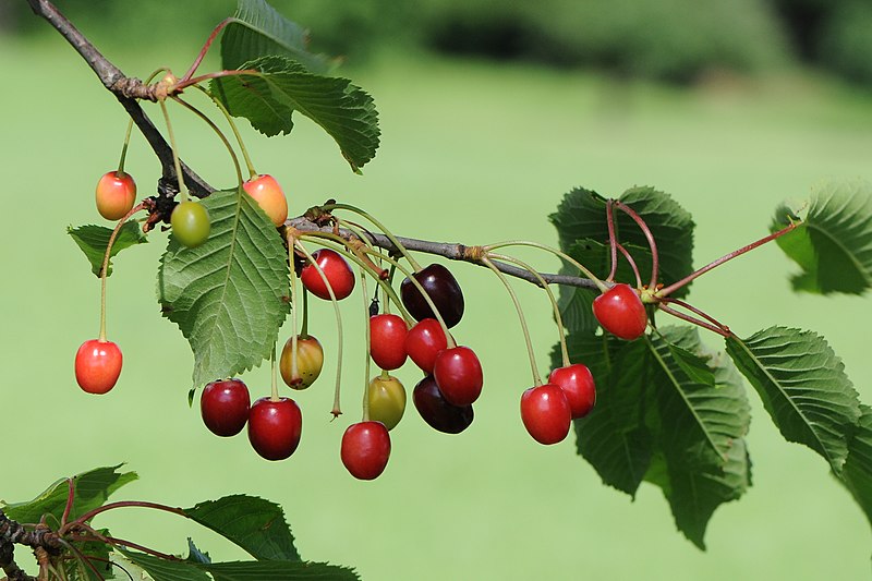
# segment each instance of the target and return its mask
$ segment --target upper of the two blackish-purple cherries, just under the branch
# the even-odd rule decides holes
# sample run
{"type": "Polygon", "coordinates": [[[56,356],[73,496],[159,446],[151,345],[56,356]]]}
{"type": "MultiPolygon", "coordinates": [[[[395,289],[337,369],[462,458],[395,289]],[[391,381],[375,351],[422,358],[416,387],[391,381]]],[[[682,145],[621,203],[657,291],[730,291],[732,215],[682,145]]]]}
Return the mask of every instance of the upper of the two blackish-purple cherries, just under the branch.
{"type": "MultiPolygon", "coordinates": [[[[460,323],[463,316],[463,292],[450,270],[440,264],[432,264],[412,276],[427,291],[433,304],[436,305],[443,319],[445,319],[446,327],[450,329],[460,323]]],[[[424,300],[424,295],[409,280],[409,277],[405,277],[400,285],[400,298],[402,299],[402,304],[405,305],[409,314],[415,320],[436,316],[424,300]]]]}

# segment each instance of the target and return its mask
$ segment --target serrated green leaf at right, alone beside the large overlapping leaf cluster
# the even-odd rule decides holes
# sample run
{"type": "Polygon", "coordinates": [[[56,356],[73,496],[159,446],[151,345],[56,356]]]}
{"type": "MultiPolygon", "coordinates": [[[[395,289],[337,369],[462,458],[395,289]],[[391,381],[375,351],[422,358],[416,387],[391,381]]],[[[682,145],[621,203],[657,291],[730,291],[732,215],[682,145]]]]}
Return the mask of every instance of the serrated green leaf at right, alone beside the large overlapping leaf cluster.
{"type": "Polygon", "coordinates": [[[727,353],[785,439],[804,444],[840,473],[860,402],[829,344],[811,331],[770,327],[727,339],[727,353]]]}

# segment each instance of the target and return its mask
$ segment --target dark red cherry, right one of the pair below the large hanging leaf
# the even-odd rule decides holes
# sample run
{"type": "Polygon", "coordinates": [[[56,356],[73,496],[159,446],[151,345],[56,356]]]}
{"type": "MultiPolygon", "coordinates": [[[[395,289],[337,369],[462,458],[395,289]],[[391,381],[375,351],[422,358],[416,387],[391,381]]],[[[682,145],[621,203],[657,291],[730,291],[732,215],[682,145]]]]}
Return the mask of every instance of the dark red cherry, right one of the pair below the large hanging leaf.
{"type": "Polygon", "coordinates": [[[249,441],[267,460],[284,460],[300,444],[303,414],[290,398],[261,398],[249,412],[249,441]]]}

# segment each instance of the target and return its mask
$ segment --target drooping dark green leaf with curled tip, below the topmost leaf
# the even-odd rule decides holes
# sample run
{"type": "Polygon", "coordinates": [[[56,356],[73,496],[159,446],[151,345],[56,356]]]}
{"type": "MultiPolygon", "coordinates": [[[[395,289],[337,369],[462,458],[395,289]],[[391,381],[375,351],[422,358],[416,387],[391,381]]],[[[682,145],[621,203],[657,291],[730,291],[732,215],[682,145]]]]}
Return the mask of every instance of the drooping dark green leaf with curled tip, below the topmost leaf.
{"type": "Polygon", "coordinates": [[[351,81],[313,74],[284,57],[262,57],[243,68],[257,72],[214,78],[210,85],[232,116],[272,136],[290,133],[292,113],[300,111],[336,141],[355,172],[375,157],[378,113],[373,98],[351,81]]]}

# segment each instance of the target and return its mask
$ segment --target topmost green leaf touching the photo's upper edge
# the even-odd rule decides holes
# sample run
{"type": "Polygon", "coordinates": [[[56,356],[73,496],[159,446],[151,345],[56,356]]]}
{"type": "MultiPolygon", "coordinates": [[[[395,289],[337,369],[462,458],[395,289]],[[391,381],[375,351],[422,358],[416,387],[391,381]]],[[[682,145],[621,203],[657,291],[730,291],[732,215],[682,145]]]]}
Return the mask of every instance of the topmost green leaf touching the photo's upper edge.
{"type": "Polygon", "coordinates": [[[221,37],[221,66],[242,69],[243,63],[257,58],[281,55],[312,72],[326,72],[327,58],[313,55],[307,45],[308,33],[264,0],[239,0],[221,37]]]}

